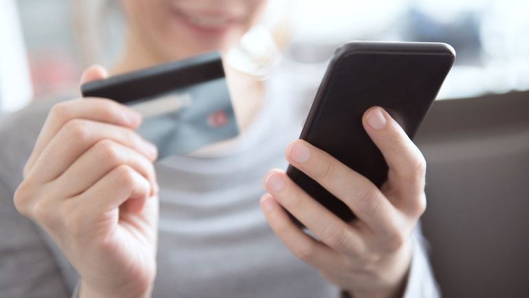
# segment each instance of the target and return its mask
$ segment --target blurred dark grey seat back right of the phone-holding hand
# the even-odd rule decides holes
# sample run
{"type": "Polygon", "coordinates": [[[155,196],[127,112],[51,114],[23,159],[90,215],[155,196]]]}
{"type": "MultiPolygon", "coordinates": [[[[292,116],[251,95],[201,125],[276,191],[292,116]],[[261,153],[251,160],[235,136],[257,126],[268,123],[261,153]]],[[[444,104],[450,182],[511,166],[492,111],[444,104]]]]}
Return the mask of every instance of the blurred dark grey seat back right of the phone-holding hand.
{"type": "Polygon", "coordinates": [[[529,297],[529,92],[434,103],[423,231],[444,297],[529,297]]]}

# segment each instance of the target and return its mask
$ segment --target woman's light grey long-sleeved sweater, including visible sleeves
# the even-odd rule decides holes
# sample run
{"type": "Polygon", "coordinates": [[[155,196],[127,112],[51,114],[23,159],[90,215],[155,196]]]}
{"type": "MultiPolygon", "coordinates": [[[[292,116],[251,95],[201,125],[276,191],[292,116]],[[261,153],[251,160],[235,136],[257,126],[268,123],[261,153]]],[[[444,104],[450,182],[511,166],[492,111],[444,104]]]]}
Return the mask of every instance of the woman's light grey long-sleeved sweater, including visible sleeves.
{"type": "MultiPolygon", "coordinates": [[[[338,288],[291,255],[259,209],[263,176],[286,168],[284,148],[299,136],[313,89],[278,71],[267,92],[258,116],[227,146],[156,164],[161,192],[153,297],[339,297],[338,288]]],[[[78,282],[54,242],[12,203],[51,106],[32,106],[0,122],[0,297],[69,297],[78,282]]],[[[438,297],[420,231],[414,243],[405,297],[438,297]]]]}

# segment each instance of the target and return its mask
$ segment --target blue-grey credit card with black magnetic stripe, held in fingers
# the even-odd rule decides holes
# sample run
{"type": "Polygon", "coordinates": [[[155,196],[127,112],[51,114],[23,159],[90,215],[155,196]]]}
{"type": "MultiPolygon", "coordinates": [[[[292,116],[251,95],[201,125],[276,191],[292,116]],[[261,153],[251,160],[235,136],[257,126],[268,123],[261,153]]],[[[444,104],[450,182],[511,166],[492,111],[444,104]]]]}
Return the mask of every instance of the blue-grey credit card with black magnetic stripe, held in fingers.
{"type": "Polygon", "coordinates": [[[88,82],[81,92],[141,113],[137,132],[157,146],[159,160],[238,135],[218,52],[88,82]]]}

